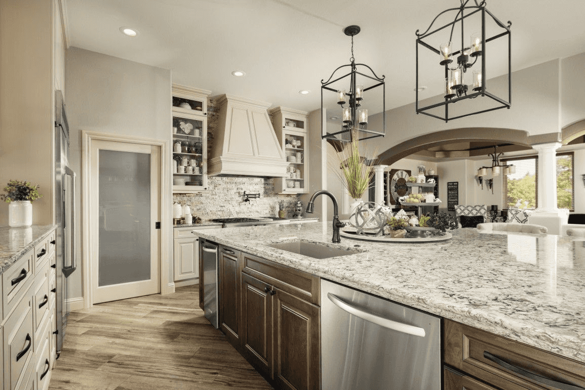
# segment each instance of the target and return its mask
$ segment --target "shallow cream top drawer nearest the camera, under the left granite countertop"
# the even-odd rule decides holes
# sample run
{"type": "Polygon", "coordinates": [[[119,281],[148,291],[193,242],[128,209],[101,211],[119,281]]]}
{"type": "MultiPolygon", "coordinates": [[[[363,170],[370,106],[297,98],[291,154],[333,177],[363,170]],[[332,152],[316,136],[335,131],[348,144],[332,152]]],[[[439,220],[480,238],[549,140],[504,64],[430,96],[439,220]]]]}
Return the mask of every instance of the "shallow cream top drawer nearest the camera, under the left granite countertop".
{"type": "Polygon", "coordinates": [[[5,317],[20,301],[33,281],[33,256],[30,250],[2,274],[2,308],[5,317]]]}

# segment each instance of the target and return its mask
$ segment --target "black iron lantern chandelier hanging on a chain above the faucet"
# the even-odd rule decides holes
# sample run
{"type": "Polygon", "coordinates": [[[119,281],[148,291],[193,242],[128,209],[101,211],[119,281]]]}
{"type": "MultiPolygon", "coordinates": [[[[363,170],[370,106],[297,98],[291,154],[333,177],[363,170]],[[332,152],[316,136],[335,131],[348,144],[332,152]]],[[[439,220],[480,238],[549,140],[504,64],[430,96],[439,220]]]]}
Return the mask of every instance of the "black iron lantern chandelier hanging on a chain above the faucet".
{"type": "Polygon", "coordinates": [[[321,80],[321,111],[329,108],[328,116],[335,112],[329,120],[336,121],[333,123],[328,121],[325,126],[322,123],[322,138],[347,142],[352,141],[356,134],[359,140],[383,137],[386,132],[385,76],[378,77],[366,64],[356,64],[353,58],[353,37],[360,32],[360,27],[348,26],[343,32],[352,37],[352,57],[349,58],[349,64],[341,65],[333,71],[329,80],[321,80]],[[346,67],[350,68],[349,73],[338,77],[336,72],[346,67]],[[366,104],[371,106],[376,99],[373,91],[375,88],[380,91],[381,129],[368,128],[368,110],[365,108],[366,104]],[[335,104],[339,106],[340,112],[338,107],[333,107],[335,104]]]}

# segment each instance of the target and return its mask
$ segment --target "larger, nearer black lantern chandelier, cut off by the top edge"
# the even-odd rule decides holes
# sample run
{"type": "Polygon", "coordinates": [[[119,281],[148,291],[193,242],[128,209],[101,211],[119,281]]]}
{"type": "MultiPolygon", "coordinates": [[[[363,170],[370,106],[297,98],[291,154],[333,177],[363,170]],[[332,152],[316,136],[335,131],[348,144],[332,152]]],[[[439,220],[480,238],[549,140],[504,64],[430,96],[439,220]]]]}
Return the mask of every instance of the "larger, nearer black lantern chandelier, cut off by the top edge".
{"type": "MultiPolygon", "coordinates": [[[[510,108],[512,99],[510,85],[512,23],[508,21],[508,25],[505,26],[495,18],[486,9],[485,1],[478,3],[477,0],[460,0],[460,3],[459,8],[450,8],[439,13],[424,33],[419,33],[419,30],[416,32],[416,111],[417,114],[424,113],[445,122],[500,108],[510,108]],[[447,17],[453,13],[455,18],[452,22],[429,32],[439,17],[442,15],[447,17]],[[505,54],[508,58],[507,63],[497,61],[497,58],[504,58],[505,54]],[[433,67],[427,64],[433,64],[433,67]],[[490,91],[487,91],[486,64],[490,65],[492,77],[494,73],[507,72],[507,82],[490,80],[490,91]],[[420,84],[421,81],[423,84],[420,84]],[[430,104],[419,107],[419,85],[433,85],[438,91],[439,81],[443,84],[443,93],[429,99],[432,100],[430,104]],[[508,100],[495,94],[503,96],[507,94],[508,100]],[[487,96],[490,99],[472,102],[471,99],[478,96],[487,96]],[[457,102],[459,104],[453,106],[453,103],[457,102]]],[[[425,101],[425,104],[427,103],[428,101],[425,101]]]]}

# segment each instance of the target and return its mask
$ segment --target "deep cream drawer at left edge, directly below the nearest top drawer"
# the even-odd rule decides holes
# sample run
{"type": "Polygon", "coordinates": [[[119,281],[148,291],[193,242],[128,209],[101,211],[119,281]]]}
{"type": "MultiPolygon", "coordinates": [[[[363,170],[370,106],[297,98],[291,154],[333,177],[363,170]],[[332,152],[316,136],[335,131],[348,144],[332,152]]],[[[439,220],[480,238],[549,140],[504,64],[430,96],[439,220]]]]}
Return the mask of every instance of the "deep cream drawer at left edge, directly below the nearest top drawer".
{"type": "Polygon", "coordinates": [[[6,319],[3,332],[4,389],[14,390],[29,357],[34,356],[32,296],[19,302],[6,319]]]}

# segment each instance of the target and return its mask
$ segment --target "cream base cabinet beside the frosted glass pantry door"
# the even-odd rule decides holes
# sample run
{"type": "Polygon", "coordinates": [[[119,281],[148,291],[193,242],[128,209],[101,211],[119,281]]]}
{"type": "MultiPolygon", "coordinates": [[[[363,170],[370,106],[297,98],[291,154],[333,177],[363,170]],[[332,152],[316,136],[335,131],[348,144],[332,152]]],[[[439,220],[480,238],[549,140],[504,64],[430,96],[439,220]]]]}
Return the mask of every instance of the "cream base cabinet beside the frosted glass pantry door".
{"type": "Polygon", "coordinates": [[[191,226],[174,228],[174,281],[199,277],[199,236],[197,230],[218,226],[191,226]]]}

